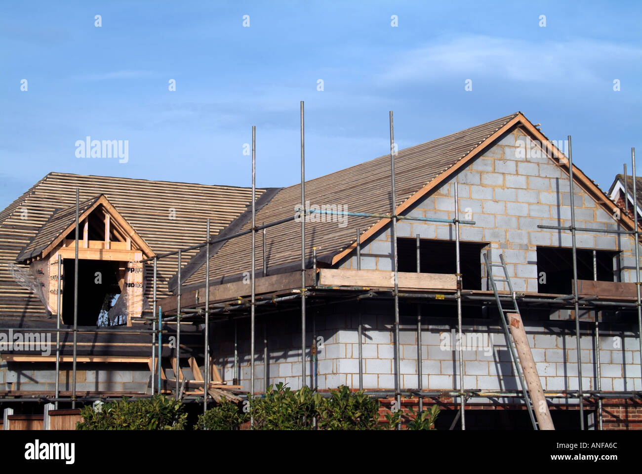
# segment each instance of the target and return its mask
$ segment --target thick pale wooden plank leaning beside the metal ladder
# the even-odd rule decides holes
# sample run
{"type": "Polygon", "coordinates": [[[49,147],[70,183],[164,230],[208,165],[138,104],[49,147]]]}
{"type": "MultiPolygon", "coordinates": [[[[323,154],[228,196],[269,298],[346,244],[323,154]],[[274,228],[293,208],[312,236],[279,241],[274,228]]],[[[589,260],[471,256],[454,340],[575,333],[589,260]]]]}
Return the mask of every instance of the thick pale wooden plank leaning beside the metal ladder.
{"type": "MultiPolygon", "coordinates": [[[[530,399],[533,403],[533,410],[535,411],[535,417],[537,417],[537,423],[539,423],[539,429],[555,430],[553,420],[551,419],[551,412],[548,410],[548,404],[546,403],[546,398],[544,398],[542,383],[539,380],[539,374],[535,367],[533,353],[530,350],[530,346],[528,346],[526,331],[524,330],[524,324],[519,314],[508,313],[508,327],[515,341],[517,355],[519,356],[519,362],[521,363],[524,378],[526,379],[528,392],[530,392],[530,399]]],[[[510,344],[510,342],[508,342],[508,344],[510,344]]]]}

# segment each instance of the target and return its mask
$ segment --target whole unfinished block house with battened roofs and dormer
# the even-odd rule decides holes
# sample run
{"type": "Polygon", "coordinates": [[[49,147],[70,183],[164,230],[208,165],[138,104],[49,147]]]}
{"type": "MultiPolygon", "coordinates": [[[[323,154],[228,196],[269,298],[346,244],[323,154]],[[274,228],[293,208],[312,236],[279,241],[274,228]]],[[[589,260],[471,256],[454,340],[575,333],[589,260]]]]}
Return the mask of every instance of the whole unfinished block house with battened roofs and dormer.
{"type": "Polygon", "coordinates": [[[5,429],[277,382],[445,429],[642,428],[638,213],[570,137],[517,112],[397,151],[391,112],[389,154],[313,180],[303,106],[301,137],[287,188],[254,186],[253,133],[252,188],[50,173],[4,209],[5,429]]]}

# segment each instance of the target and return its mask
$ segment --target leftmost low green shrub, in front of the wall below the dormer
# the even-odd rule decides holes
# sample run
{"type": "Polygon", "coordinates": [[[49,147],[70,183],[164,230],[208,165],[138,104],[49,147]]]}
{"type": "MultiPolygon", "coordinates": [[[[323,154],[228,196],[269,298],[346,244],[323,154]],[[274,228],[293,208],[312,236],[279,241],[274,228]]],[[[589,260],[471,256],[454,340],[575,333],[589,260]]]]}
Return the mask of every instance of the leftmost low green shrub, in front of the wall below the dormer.
{"type": "Polygon", "coordinates": [[[183,403],[164,395],[123,398],[103,404],[100,412],[87,405],[80,415],[76,430],[182,430],[187,422],[183,403]]]}

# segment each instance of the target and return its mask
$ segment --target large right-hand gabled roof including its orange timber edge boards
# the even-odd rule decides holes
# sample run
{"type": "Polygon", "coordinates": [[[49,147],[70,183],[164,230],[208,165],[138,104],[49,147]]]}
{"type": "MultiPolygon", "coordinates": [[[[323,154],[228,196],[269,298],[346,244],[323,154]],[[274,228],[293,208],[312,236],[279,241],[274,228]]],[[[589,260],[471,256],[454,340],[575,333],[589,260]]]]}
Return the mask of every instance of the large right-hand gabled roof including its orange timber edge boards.
{"type": "MultiPolygon", "coordinates": [[[[395,154],[395,212],[399,215],[406,211],[515,127],[522,127],[540,143],[548,143],[548,149],[553,150],[555,156],[564,157],[557,146],[521,112],[411,146],[395,154]]],[[[556,162],[568,173],[566,158],[556,162]]],[[[618,207],[575,165],[573,173],[575,181],[609,213],[618,207]]],[[[390,213],[390,155],[306,181],[306,200],[312,205],[342,205],[345,206],[344,211],[350,212],[390,213]]],[[[257,225],[293,216],[297,206],[300,206],[300,184],[283,188],[257,212],[257,225]]],[[[623,216],[622,221],[632,229],[633,223],[628,216],[623,216]]],[[[360,229],[359,240],[363,242],[389,222],[386,218],[353,216],[348,218],[345,227],[336,223],[306,222],[306,259],[310,261],[313,247],[317,247],[320,261],[337,263],[355,249],[357,229],[360,229]]],[[[245,225],[243,230],[249,227],[245,225]]],[[[211,284],[238,280],[243,272],[250,270],[250,241],[249,234],[234,238],[216,254],[211,254],[211,284]]],[[[260,269],[263,267],[261,235],[257,236],[257,241],[255,264],[260,269]]],[[[268,274],[299,268],[300,224],[288,222],[268,229],[266,248],[268,274]]],[[[204,286],[204,281],[205,265],[202,265],[186,279],[184,285],[197,288],[204,286]]]]}

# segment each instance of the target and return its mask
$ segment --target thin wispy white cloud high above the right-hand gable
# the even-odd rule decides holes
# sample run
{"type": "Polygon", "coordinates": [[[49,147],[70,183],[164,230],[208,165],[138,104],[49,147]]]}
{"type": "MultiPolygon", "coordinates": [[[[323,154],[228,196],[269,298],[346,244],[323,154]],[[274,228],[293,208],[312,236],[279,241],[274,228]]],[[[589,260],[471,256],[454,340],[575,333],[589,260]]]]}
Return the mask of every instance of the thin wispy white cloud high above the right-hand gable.
{"type": "Polygon", "coordinates": [[[608,69],[639,64],[642,48],[596,40],[527,41],[485,35],[416,48],[388,62],[383,83],[431,82],[446,76],[523,82],[551,78],[595,82],[608,69]]]}

